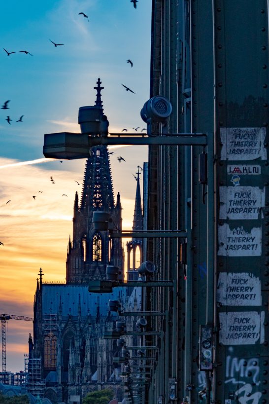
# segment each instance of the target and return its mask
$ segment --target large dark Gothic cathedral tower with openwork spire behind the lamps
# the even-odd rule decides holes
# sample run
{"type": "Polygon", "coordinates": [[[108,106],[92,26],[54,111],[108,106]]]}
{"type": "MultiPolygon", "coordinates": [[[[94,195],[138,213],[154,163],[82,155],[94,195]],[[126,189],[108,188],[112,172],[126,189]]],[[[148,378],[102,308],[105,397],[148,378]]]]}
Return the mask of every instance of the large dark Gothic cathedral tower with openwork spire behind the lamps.
{"type": "MultiPolygon", "coordinates": [[[[101,80],[97,81],[95,105],[102,108],[101,80]]],[[[120,239],[109,243],[108,232],[96,232],[93,228],[93,212],[106,211],[118,229],[122,228],[121,200],[117,195],[114,205],[113,185],[106,146],[91,149],[86,161],[82,196],[79,203],[75,195],[73,214],[73,237],[69,238],[66,262],[67,284],[84,284],[90,280],[105,279],[106,265],[117,265],[123,271],[124,253],[120,239]]]]}

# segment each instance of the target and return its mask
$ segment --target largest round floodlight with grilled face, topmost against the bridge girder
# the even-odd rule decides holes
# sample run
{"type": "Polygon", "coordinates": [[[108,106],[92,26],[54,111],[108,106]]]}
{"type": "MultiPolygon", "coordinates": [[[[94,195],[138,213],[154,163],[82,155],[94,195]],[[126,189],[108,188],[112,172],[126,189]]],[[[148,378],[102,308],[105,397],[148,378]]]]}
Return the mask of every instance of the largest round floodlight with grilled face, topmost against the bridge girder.
{"type": "Polygon", "coordinates": [[[151,119],[155,122],[165,122],[172,112],[170,101],[162,95],[156,95],[145,102],[140,115],[144,122],[151,119]]]}

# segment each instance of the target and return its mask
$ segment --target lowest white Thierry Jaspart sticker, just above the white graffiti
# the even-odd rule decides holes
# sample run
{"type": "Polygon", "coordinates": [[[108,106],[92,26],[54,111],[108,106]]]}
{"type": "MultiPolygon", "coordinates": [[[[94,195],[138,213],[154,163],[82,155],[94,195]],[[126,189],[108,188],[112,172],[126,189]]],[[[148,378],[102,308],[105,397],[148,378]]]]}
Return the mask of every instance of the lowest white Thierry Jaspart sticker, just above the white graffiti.
{"type": "Polygon", "coordinates": [[[219,313],[219,341],[224,345],[251,345],[264,342],[264,312],[219,313]]]}

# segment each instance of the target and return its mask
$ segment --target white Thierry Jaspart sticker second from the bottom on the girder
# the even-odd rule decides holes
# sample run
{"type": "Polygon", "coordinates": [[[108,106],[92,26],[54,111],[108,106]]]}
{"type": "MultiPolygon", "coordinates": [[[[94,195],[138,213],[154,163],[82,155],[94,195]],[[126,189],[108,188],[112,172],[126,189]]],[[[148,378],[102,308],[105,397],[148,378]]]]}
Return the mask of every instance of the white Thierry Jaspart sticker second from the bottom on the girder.
{"type": "Polygon", "coordinates": [[[226,306],[260,306],[260,279],[247,272],[221,272],[217,285],[217,302],[226,306]]]}

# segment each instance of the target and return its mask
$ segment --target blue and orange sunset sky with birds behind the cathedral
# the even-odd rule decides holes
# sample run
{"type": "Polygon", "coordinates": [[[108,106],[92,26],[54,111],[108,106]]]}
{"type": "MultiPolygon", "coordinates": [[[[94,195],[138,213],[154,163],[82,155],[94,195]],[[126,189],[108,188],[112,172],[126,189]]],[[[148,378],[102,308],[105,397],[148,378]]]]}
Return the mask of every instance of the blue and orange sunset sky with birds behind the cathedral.
{"type": "MultiPolygon", "coordinates": [[[[33,317],[40,267],[45,281],[65,281],[74,195],[86,160],[45,159],[44,134],[80,132],[78,109],[94,105],[98,77],[109,132],[144,128],[150,29],[150,0],[139,0],[136,9],[130,0],[1,1],[0,106],[9,102],[0,108],[0,314],[33,317]]],[[[112,148],[114,192],[121,193],[123,228],[130,229],[132,174],[147,161],[147,147],[112,148]],[[126,162],[117,161],[119,154],[126,162]]],[[[24,369],[30,332],[31,322],[8,321],[7,370],[24,369]]]]}

